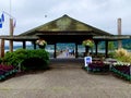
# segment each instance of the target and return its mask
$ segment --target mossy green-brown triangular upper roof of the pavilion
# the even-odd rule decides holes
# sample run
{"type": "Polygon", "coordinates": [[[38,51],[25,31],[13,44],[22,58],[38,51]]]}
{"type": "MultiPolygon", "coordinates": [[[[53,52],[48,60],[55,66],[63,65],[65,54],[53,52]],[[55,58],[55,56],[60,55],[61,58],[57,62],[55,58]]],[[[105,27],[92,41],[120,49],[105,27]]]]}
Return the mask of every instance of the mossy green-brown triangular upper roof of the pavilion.
{"type": "Polygon", "coordinates": [[[96,27],[93,27],[91,25],[87,25],[83,22],[80,22],[75,19],[72,19],[68,15],[63,15],[57,20],[53,20],[49,23],[43,24],[38,27],[35,27],[31,30],[27,30],[25,33],[20,34],[19,36],[34,36],[37,35],[37,33],[45,33],[45,32],[53,32],[53,33],[58,33],[58,32],[86,32],[86,33],[91,33],[91,35],[111,35],[107,32],[104,32],[102,29],[98,29],[96,27]]]}

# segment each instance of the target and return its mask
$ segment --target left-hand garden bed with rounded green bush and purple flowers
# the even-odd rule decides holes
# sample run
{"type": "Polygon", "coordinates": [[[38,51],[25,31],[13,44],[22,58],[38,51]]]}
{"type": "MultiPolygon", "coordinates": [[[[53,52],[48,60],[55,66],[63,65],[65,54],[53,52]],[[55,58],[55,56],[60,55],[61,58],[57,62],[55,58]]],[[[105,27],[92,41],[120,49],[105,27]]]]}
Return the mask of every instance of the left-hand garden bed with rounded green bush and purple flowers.
{"type": "Polygon", "coordinates": [[[7,52],[0,59],[0,81],[14,76],[17,72],[48,70],[49,53],[45,49],[27,50],[17,49],[7,52]]]}

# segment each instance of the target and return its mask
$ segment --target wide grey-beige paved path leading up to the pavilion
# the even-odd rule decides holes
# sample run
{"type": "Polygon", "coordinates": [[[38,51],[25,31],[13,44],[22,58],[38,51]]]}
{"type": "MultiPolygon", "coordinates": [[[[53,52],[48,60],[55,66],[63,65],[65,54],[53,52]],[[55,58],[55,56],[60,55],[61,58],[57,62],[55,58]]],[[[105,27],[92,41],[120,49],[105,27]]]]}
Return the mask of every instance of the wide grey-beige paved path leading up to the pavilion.
{"type": "Polygon", "coordinates": [[[0,98],[131,98],[131,84],[111,74],[88,74],[78,62],[50,66],[0,83],[0,98]]]}

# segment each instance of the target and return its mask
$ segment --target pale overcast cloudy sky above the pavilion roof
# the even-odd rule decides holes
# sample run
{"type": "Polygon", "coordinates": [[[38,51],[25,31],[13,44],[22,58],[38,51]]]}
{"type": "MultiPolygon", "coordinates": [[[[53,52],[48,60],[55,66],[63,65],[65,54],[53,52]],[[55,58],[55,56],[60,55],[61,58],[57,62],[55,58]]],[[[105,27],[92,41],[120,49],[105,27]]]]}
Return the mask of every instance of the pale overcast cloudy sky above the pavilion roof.
{"type": "MultiPolygon", "coordinates": [[[[122,34],[131,35],[131,0],[0,0],[2,11],[16,19],[14,35],[56,20],[63,14],[117,35],[117,19],[122,19],[122,34]]],[[[5,14],[0,35],[9,35],[5,14]]]]}

